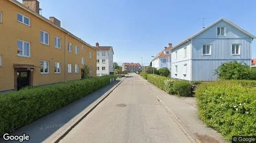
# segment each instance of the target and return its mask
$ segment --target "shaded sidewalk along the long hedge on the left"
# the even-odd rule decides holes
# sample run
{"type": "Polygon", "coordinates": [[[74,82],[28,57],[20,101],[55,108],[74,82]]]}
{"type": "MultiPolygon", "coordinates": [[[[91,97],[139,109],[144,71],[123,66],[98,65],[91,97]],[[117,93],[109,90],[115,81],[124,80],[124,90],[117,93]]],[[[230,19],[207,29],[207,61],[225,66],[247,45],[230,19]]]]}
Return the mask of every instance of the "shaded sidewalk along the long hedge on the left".
{"type": "MultiPolygon", "coordinates": [[[[25,133],[26,135],[29,135],[30,140],[25,141],[25,143],[50,143],[65,129],[67,129],[71,123],[78,119],[81,114],[89,111],[89,109],[95,105],[100,98],[103,98],[106,92],[111,90],[118,82],[121,82],[122,80],[123,79],[117,79],[115,82],[112,82],[109,85],[106,85],[105,87],[88,94],[75,102],[71,102],[61,109],[43,116],[42,118],[39,118],[10,134],[22,135],[25,133]]],[[[3,137],[0,137],[0,143],[2,142],[6,141],[3,140],[3,137]]],[[[19,143],[15,141],[12,142],[19,143]]]]}

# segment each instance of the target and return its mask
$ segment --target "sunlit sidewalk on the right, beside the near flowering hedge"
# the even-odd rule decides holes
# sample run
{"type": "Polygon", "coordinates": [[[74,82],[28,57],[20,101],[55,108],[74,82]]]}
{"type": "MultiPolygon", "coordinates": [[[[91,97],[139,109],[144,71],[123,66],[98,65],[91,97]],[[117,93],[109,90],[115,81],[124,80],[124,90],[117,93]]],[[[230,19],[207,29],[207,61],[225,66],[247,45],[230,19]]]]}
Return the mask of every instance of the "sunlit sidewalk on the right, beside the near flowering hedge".
{"type": "MultiPolygon", "coordinates": [[[[141,78],[142,79],[142,78],[141,78]]],[[[177,97],[156,87],[151,82],[144,80],[161,101],[175,114],[178,120],[192,133],[201,143],[224,143],[226,142],[220,133],[208,128],[198,117],[197,105],[194,97],[177,97]]]]}

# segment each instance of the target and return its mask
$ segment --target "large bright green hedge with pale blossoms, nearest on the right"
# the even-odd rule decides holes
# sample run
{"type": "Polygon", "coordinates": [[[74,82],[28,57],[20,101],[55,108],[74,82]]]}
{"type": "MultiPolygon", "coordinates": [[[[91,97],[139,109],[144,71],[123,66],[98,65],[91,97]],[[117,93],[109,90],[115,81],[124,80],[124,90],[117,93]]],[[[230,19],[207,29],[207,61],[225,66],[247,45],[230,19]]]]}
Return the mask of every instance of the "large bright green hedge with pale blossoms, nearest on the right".
{"type": "Polygon", "coordinates": [[[200,118],[226,139],[256,135],[256,81],[204,82],[196,98],[200,118]]]}

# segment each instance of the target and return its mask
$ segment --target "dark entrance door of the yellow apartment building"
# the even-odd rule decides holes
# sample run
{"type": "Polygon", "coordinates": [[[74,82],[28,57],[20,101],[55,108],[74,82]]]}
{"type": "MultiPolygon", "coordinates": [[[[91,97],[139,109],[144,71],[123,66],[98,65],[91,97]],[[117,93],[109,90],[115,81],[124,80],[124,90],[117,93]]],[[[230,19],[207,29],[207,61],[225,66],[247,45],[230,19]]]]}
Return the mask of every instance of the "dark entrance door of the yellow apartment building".
{"type": "Polygon", "coordinates": [[[29,86],[29,72],[28,71],[18,71],[19,75],[17,77],[17,90],[20,90],[26,86],[29,86]]]}

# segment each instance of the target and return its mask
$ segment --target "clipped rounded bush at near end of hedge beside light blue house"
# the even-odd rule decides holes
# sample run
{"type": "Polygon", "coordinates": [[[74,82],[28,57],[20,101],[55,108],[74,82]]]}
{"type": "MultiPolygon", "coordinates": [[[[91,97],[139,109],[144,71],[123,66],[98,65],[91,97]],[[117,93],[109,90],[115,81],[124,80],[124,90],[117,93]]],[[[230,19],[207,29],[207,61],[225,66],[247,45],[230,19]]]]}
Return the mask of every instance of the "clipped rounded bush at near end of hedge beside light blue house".
{"type": "Polygon", "coordinates": [[[185,80],[179,80],[173,82],[173,92],[178,96],[190,96],[191,83],[185,80]]]}

